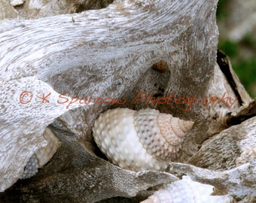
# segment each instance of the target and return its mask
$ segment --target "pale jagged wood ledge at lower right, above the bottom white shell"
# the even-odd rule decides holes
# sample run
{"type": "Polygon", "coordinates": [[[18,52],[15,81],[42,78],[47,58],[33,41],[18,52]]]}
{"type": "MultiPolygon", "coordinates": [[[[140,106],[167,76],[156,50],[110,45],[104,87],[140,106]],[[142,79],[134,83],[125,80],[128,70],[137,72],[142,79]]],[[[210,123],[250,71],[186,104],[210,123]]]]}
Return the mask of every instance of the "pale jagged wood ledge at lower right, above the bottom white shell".
{"type": "Polygon", "coordinates": [[[241,199],[246,195],[256,195],[255,168],[254,159],[227,171],[212,171],[183,163],[171,163],[168,171],[178,176],[189,174],[195,181],[215,186],[214,195],[230,194],[241,199]]]}

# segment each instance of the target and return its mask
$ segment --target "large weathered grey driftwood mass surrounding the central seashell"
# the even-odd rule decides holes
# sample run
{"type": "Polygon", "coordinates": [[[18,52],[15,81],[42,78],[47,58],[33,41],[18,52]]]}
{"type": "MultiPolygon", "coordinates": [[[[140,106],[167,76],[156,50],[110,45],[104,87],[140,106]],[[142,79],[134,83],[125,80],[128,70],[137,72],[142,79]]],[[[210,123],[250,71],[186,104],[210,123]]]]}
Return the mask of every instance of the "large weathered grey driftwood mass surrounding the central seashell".
{"type": "Polygon", "coordinates": [[[254,103],[249,105],[223,53],[216,63],[216,5],[115,1],[80,14],[2,20],[0,199],[96,202],[137,195],[126,199],[137,202],[150,195],[146,189],[178,180],[177,168],[214,185],[216,194],[253,199],[255,120],[239,123],[254,103]],[[171,102],[157,102],[167,96],[171,102]],[[180,163],[166,172],[136,173],[108,162],[93,142],[92,126],[100,113],[117,107],[157,108],[194,120],[173,160],[180,163]],[[19,180],[29,158],[46,144],[42,135],[49,125],[61,146],[38,174],[19,180]],[[230,145],[215,149],[222,140],[230,145]],[[244,177],[242,186],[232,184],[236,177],[220,179],[232,170],[244,177]]]}

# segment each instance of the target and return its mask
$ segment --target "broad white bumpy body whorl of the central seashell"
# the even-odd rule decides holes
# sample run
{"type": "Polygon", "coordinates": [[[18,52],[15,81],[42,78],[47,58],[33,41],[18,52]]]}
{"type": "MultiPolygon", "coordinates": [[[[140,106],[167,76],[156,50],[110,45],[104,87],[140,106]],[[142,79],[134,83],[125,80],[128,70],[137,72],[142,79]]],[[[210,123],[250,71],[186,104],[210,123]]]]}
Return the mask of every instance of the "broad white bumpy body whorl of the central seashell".
{"type": "MultiPolygon", "coordinates": [[[[133,114],[136,111],[125,109],[123,110],[125,117],[120,115],[118,109],[115,111],[106,111],[93,126],[93,137],[98,147],[115,165],[120,165],[122,168],[128,168],[134,171],[146,170],[146,168],[154,168],[154,165],[160,165],[157,161],[152,161],[152,157],[148,155],[147,151],[139,141],[136,131],[133,127],[133,114]],[[111,120],[118,120],[120,125],[111,125],[111,120]],[[100,125],[105,122],[107,124],[100,125]],[[108,126],[108,128],[104,127],[108,126]],[[122,127],[120,127],[122,126],[122,127]],[[108,131],[108,136],[102,135],[102,131],[108,131]],[[105,138],[104,138],[105,137],[105,138]],[[119,156],[117,156],[117,154],[119,156]],[[138,154],[140,156],[138,156],[138,154]],[[121,156],[120,156],[121,155],[121,156]],[[142,166],[138,162],[147,162],[142,166]]],[[[164,165],[166,167],[167,164],[164,165]]]]}

